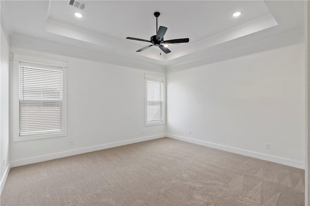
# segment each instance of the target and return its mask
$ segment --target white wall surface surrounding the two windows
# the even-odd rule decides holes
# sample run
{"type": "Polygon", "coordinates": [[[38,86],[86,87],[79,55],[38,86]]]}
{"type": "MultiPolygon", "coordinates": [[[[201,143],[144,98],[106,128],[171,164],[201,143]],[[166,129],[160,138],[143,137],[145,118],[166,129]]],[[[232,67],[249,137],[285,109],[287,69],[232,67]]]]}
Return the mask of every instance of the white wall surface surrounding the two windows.
{"type": "Polygon", "coordinates": [[[165,136],[165,125],[144,126],[144,74],[155,72],[23,48],[13,51],[68,60],[68,130],[65,137],[11,138],[12,166],[165,136]]]}

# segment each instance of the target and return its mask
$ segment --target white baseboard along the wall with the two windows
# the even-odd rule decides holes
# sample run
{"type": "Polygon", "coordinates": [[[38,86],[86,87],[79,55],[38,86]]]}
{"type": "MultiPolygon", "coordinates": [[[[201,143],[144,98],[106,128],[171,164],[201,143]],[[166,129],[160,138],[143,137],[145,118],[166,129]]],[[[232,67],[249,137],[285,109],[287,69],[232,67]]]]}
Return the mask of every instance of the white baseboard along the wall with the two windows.
{"type": "Polygon", "coordinates": [[[48,155],[42,155],[42,156],[37,156],[37,157],[31,157],[27,159],[21,159],[21,160],[16,160],[16,161],[11,161],[11,167],[17,167],[17,166],[22,166],[26,164],[32,164],[36,162],[44,162],[48,160],[54,160],[58,158],[63,158],[63,157],[68,157],[72,155],[78,155],[78,154],[83,154],[87,152],[93,152],[101,149],[108,149],[112,147],[119,147],[123,145],[129,145],[133,143],[138,143],[138,142],[144,142],[152,139],[158,139],[166,137],[166,134],[158,134],[158,135],[153,135],[153,136],[146,136],[146,137],[140,137],[140,138],[135,138],[135,139],[130,139],[130,140],[125,140],[125,141],[119,141],[119,142],[113,142],[113,143],[108,143],[108,144],[103,144],[103,145],[98,145],[98,146],[93,146],[93,147],[84,147],[84,148],[79,148],[79,149],[74,149],[74,150],[69,150],[69,151],[64,151],[64,152],[58,152],[58,153],[53,153],[53,154],[48,154],[48,155]]]}

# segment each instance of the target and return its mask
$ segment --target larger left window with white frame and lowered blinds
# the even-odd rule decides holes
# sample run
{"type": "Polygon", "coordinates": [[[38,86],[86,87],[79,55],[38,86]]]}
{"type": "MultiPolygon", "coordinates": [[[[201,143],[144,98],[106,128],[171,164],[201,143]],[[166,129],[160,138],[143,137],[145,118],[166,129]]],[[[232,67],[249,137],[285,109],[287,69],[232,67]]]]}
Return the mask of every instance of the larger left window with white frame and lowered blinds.
{"type": "MultiPolygon", "coordinates": [[[[25,55],[14,55],[14,58],[25,59],[25,55]]],[[[40,61],[46,62],[41,58],[40,61]]],[[[13,117],[14,141],[66,135],[66,68],[59,65],[62,62],[58,60],[53,63],[49,65],[14,59],[13,72],[17,77],[14,79],[14,109],[18,111],[18,117],[13,117]]]]}

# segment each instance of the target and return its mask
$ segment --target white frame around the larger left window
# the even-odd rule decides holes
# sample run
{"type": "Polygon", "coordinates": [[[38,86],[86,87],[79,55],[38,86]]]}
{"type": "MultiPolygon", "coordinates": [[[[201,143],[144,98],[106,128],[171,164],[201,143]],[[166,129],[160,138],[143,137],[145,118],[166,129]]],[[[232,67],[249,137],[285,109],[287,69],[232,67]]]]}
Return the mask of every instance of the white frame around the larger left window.
{"type": "Polygon", "coordinates": [[[13,80],[13,141],[27,141],[35,139],[45,139],[52,137],[61,137],[67,135],[67,61],[59,59],[49,59],[32,55],[12,53],[12,80],[13,80]],[[48,66],[56,66],[62,68],[62,132],[47,133],[47,134],[19,134],[19,62],[32,64],[41,64],[48,66]]]}

